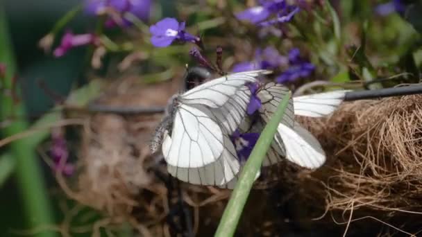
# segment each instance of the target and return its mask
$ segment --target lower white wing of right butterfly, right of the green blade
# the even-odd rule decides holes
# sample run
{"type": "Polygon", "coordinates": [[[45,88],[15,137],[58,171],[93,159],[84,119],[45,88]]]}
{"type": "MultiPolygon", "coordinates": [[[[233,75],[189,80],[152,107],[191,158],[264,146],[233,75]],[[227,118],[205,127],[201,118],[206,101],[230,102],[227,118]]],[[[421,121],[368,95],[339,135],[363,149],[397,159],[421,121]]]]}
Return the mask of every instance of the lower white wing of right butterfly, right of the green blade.
{"type": "Polygon", "coordinates": [[[305,168],[319,168],[326,161],[326,155],[318,140],[298,123],[294,128],[278,125],[278,134],[285,144],[286,158],[305,168]]]}

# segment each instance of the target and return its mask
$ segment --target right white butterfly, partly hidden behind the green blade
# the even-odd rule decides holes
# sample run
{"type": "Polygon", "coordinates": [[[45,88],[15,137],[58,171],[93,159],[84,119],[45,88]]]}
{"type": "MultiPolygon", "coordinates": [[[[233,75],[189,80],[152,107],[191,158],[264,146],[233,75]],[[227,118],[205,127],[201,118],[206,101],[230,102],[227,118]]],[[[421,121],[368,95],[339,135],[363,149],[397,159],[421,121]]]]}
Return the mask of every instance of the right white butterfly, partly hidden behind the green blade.
{"type": "MultiPolygon", "coordinates": [[[[285,115],[278,125],[271,149],[267,153],[263,166],[276,164],[286,158],[304,168],[319,168],[326,161],[326,155],[314,136],[294,121],[294,116],[320,117],[331,114],[343,101],[347,90],[331,91],[320,94],[294,97],[289,101],[285,115]]],[[[273,113],[288,93],[283,85],[273,82],[264,85],[257,93],[262,106],[259,109],[260,119],[252,128],[262,130],[271,119],[273,113]]],[[[256,122],[255,122],[256,123],[256,122]]],[[[241,127],[244,125],[241,125],[241,127]]],[[[251,127],[251,125],[249,125],[251,127]]],[[[249,130],[248,132],[254,132],[249,130]]]]}

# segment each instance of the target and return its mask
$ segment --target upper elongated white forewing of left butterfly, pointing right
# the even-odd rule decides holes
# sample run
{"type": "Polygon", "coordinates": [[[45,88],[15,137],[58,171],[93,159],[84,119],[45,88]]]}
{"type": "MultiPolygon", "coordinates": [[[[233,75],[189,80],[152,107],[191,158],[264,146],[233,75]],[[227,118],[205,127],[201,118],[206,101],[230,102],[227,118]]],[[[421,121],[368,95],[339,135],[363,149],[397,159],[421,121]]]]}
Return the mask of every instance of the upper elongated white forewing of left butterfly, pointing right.
{"type": "Polygon", "coordinates": [[[244,86],[246,82],[256,82],[258,76],[268,73],[271,71],[256,70],[222,76],[190,89],[180,96],[180,101],[186,105],[201,104],[219,108],[237,93],[239,87],[244,86]]]}

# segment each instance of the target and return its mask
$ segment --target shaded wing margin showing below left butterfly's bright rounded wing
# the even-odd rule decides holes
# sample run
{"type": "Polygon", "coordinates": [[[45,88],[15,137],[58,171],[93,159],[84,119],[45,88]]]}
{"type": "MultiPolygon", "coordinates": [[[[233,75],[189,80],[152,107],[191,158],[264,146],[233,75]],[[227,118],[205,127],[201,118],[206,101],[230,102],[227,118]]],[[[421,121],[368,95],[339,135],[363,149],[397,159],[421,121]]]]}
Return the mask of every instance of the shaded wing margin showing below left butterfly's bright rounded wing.
{"type": "Polygon", "coordinates": [[[167,164],[169,173],[190,184],[226,187],[239,173],[240,164],[236,151],[228,137],[224,137],[225,149],[217,161],[198,168],[180,168],[167,164]]]}

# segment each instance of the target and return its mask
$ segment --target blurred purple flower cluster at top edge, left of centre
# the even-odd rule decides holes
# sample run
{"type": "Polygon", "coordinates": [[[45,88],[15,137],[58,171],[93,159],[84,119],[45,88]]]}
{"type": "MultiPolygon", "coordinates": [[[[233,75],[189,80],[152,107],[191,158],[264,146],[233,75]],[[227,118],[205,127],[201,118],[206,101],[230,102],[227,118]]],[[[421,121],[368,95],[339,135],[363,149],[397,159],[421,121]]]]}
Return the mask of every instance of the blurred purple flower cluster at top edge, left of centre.
{"type": "Polygon", "coordinates": [[[109,17],[105,26],[130,26],[132,22],[124,17],[130,13],[142,21],[149,19],[151,0],[86,0],[85,12],[90,15],[104,15],[109,17]]]}

